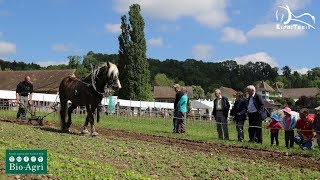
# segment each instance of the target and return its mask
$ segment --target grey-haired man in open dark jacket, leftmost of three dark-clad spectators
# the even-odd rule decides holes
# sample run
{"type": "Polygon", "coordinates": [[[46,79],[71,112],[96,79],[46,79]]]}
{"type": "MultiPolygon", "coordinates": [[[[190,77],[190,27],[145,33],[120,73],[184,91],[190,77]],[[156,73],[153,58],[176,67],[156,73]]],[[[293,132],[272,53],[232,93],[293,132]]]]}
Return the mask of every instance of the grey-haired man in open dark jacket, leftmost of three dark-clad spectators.
{"type": "Polygon", "coordinates": [[[216,89],[214,91],[214,95],[216,98],[213,101],[212,115],[214,116],[217,122],[218,136],[219,139],[229,140],[228,114],[230,109],[230,103],[227,97],[221,95],[220,89],[216,89]]]}

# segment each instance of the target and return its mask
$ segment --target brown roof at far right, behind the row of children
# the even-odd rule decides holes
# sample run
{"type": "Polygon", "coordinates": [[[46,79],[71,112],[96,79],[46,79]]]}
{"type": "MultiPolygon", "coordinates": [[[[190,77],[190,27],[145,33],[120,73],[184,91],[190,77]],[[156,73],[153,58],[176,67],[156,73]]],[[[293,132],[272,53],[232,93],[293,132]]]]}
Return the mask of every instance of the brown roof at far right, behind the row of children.
{"type": "Polygon", "coordinates": [[[312,97],[320,93],[319,88],[292,88],[282,89],[282,97],[299,99],[301,96],[312,97]]]}

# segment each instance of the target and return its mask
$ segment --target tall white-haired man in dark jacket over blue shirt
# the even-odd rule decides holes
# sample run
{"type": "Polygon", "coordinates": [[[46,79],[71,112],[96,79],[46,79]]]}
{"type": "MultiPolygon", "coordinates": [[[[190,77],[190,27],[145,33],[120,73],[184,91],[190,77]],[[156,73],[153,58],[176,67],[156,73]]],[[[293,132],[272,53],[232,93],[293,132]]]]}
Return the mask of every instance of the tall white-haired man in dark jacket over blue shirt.
{"type": "Polygon", "coordinates": [[[256,93],[253,85],[247,86],[248,116],[249,116],[249,142],[262,144],[262,113],[264,113],[264,100],[256,93]]]}

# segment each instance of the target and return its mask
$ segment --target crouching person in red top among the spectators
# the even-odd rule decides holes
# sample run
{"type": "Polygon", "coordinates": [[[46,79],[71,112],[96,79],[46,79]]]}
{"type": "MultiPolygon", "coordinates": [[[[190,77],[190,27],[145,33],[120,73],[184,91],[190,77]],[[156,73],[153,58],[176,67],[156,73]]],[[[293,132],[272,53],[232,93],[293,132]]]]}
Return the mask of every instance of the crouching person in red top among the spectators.
{"type": "Polygon", "coordinates": [[[313,117],[309,115],[309,110],[302,108],[299,111],[300,119],[298,119],[296,128],[298,136],[294,137],[294,141],[299,144],[301,149],[313,149],[313,137],[315,136],[312,131],[313,117]]]}

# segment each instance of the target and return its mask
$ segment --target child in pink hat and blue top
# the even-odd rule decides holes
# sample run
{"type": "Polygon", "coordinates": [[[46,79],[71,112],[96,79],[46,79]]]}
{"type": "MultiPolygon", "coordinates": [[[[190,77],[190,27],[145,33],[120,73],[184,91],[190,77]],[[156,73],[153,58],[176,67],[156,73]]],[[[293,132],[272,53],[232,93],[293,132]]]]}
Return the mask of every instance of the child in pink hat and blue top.
{"type": "Polygon", "coordinates": [[[282,119],[282,127],[284,128],[284,138],[286,148],[292,148],[294,144],[294,128],[296,127],[297,120],[292,116],[292,111],[289,107],[282,109],[284,117],[282,119]]]}

